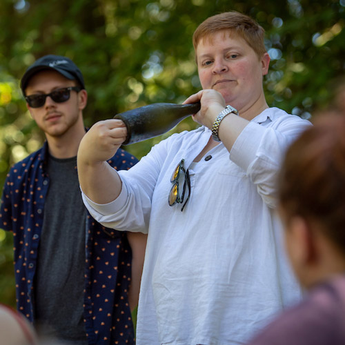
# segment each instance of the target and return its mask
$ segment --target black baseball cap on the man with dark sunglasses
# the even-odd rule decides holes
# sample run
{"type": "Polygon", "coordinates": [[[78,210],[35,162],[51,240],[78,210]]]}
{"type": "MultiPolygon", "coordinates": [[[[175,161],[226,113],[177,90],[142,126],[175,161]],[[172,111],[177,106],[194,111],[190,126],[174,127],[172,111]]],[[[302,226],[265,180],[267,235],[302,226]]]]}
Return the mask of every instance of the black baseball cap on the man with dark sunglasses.
{"type": "Polygon", "coordinates": [[[21,78],[21,91],[23,95],[25,95],[24,91],[26,86],[28,86],[29,79],[40,70],[47,69],[56,70],[67,79],[77,80],[81,87],[85,88],[83,75],[71,59],[59,55],[45,55],[34,61],[21,78]]]}

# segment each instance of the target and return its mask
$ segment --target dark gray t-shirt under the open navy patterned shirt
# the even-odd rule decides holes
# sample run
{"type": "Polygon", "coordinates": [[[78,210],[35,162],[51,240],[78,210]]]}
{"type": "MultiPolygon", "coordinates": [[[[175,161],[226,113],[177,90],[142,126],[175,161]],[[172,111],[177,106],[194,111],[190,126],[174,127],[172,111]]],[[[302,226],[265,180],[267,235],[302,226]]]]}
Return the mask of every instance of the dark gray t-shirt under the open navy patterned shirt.
{"type": "Polygon", "coordinates": [[[83,327],[86,208],[77,157],[48,159],[50,186],[35,277],[35,319],[40,333],[68,344],[88,344],[83,327]]]}

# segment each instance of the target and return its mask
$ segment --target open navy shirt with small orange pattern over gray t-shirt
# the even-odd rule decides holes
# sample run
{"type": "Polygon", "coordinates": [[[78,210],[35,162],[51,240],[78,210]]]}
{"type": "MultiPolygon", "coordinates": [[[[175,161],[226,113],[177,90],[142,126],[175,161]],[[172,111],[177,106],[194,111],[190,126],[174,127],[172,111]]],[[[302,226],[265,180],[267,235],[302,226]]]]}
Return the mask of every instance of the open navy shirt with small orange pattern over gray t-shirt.
{"type": "MultiPolygon", "coordinates": [[[[12,231],[14,239],[17,308],[30,322],[34,320],[33,282],[50,184],[47,155],[45,142],[41,149],[14,164],[1,199],[0,228],[12,231]]],[[[117,170],[129,169],[137,159],[119,149],[108,163],[117,170]]],[[[89,344],[135,342],[128,304],[131,257],[126,233],[101,226],[87,213],[83,310],[89,344]]]]}

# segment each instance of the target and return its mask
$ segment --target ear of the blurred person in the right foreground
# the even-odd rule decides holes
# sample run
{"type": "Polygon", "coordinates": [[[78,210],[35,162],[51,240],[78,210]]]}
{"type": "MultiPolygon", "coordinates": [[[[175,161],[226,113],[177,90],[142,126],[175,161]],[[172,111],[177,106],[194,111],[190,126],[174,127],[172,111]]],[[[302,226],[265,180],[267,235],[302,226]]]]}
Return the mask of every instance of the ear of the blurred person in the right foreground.
{"type": "Polygon", "coordinates": [[[290,219],[290,232],[292,250],[300,264],[314,264],[317,261],[317,243],[310,224],[300,216],[290,219]]]}

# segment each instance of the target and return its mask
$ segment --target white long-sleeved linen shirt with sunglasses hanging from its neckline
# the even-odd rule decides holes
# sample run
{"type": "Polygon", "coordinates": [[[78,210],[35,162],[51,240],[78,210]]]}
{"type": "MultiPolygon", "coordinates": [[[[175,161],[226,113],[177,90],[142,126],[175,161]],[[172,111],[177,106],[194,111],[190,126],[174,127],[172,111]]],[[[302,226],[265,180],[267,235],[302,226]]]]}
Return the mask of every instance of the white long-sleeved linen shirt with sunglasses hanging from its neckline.
{"type": "Polygon", "coordinates": [[[137,345],[244,344],[299,300],[274,208],[284,151],[310,125],[268,108],[244,128],[230,155],[220,143],[197,164],[210,130],[171,135],[119,171],[123,186],[115,201],[99,205],[83,195],[101,224],[148,233],[137,345]],[[168,205],[181,159],[191,183],[183,212],[181,204],[168,205]]]}

